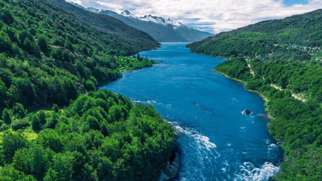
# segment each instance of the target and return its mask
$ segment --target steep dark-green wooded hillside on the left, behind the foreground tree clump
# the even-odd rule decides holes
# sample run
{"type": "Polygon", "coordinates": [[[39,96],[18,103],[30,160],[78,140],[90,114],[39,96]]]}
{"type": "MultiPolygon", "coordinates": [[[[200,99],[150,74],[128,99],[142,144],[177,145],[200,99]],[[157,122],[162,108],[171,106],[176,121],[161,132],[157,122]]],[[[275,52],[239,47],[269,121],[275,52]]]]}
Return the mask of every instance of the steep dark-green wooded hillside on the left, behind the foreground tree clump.
{"type": "Polygon", "coordinates": [[[68,105],[120,77],[119,70],[154,63],[122,57],[135,51],[127,41],[96,31],[48,1],[0,4],[0,116],[16,102],[28,109],[68,105]]]}

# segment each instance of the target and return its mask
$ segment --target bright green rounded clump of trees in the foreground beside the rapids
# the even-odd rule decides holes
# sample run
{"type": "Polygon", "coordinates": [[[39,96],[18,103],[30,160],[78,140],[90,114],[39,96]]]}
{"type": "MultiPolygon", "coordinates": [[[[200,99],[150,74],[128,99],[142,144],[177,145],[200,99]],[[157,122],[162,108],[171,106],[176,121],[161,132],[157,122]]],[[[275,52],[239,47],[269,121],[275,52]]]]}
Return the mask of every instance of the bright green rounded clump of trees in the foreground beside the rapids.
{"type": "Polygon", "coordinates": [[[152,106],[133,106],[107,90],[27,120],[40,132],[31,141],[19,131],[4,133],[0,180],[150,180],[168,160],[175,136],[152,106]]]}

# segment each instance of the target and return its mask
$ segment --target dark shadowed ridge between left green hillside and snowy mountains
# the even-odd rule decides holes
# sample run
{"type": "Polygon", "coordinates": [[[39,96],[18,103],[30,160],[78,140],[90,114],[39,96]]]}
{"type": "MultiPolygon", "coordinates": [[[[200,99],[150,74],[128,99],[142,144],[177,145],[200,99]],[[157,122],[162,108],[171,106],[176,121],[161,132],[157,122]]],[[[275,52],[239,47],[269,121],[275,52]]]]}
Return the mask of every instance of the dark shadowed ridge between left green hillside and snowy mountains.
{"type": "MultiPolygon", "coordinates": [[[[159,44],[149,34],[137,30],[122,21],[102,14],[90,13],[89,11],[72,5],[64,0],[50,0],[55,5],[60,6],[64,11],[74,14],[80,20],[95,27],[99,31],[115,33],[131,43],[136,48],[136,52],[152,50],[159,47],[159,44]]],[[[134,54],[134,53],[133,53],[134,54]]]]}

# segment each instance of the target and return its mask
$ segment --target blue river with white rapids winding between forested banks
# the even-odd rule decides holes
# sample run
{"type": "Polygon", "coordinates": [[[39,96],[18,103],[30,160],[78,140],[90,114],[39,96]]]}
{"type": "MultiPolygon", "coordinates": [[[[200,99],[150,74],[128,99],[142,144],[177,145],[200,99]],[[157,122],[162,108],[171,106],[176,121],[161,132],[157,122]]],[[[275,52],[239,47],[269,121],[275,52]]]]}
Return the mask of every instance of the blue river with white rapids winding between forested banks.
{"type": "MultiPolygon", "coordinates": [[[[102,86],[152,104],[172,124],[181,150],[175,180],[270,180],[283,150],[268,132],[264,100],[213,71],[226,60],[191,53],[186,43],[141,52],[156,62],[102,86]],[[242,114],[244,109],[252,114],[242,114]]],[[[163,180],[162,176],[160,180],[163,180]]]]}

